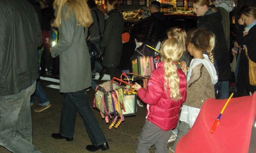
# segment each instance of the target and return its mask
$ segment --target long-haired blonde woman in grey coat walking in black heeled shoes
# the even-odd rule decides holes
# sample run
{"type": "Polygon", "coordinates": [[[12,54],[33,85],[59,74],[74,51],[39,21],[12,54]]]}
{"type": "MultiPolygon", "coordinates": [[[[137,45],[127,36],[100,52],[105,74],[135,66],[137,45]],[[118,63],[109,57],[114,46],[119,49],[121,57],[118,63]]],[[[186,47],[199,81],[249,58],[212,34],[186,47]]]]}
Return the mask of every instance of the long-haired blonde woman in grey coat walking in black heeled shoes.
{"type": "Polygon", "coordinates": [[[92,23],[89,7],[84,0],[55,0],[54,8],[57,8],[54,26],[59,28],[59,41],[51,48],[51,54],[52,57],[59,55],[60,58],[60,92],[63,92],[63,103],[59,133],[53,133],[52,137],[72,141],[78,111],[92,143],[86,149],[108,150],[108,143],[85,93],[85,88],[91,85],[90,57],[85,41],[88,27],[92,23]]]}

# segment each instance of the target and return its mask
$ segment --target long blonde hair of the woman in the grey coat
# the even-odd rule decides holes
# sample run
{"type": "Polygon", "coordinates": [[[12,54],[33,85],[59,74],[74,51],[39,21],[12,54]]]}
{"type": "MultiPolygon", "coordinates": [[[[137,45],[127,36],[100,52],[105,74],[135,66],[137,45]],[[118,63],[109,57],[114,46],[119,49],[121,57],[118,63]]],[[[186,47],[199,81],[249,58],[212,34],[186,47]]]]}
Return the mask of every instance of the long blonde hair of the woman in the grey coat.
{"type": "Polygon", "coordinates": [[[85,0],[55,0],[53,3],[54,10],[57,8],[57,15],[54,21],[55,27],[61,27],[61,11],[64,5],[67,5],[65,20],[70,16],[70,12],[74,11],[77,26],[89,27],[93,23],[90,9],[85,0]],[[72,9],[72,10],[71,10],[72,9]]]}

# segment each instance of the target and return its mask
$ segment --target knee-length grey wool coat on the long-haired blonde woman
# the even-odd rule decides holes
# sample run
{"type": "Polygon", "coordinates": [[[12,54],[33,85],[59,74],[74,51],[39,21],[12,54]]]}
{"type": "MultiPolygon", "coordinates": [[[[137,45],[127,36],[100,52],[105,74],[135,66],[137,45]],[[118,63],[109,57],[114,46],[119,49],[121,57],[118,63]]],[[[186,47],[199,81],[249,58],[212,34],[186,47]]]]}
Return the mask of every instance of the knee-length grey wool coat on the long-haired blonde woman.
{"type": "Polygon", "coordinates": [[[67,6],[61,12],[59,41],[52,47],[52,57],[60,58],[60,92],[75,92],[91,86],[91,66],[86,45],[87,28],[77,26],[73,10],[65,19],[67,6]]]}

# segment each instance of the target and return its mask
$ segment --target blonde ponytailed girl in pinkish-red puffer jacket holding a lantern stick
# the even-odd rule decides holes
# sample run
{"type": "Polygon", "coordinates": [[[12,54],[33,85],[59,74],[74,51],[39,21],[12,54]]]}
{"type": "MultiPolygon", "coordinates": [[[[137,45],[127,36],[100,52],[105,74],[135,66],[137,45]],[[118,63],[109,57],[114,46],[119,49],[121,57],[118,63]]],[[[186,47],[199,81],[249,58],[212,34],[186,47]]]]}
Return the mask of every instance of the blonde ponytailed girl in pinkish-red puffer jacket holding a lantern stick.
{"type": "Polygon", "coordinates": [[[186,75],[177,69],[185,45],[176,38],[162,43],[158,63],[147,84],[147,90],[138,83],[132,86],[139,98],[147,104],[146,122],[137,142],[137,153],[168,153],[168,138],[177,125],[180,107],[186,99],[186,75]]]}

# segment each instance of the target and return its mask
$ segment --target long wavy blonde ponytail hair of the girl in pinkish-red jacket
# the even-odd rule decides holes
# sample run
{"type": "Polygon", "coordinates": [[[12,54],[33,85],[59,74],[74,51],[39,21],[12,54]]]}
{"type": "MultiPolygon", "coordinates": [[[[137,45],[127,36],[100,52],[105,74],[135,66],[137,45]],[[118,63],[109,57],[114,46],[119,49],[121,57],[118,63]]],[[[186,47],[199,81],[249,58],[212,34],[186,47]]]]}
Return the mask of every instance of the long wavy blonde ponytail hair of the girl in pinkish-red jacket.
{"type": "Polygon", "coordinates": [[[162,42],[160,54],[165,61],[164,65],[164,89],[167,91],[167,87],[170,88],[170,98],[174,101],[182,99],[180,92],[180,78],[177,73],[177,66],[174,62],[180,60],[183,51],[185,50],[185,44],[179,39],[170,38],[162,42]]]}

